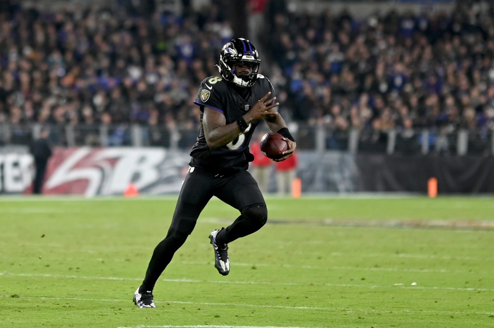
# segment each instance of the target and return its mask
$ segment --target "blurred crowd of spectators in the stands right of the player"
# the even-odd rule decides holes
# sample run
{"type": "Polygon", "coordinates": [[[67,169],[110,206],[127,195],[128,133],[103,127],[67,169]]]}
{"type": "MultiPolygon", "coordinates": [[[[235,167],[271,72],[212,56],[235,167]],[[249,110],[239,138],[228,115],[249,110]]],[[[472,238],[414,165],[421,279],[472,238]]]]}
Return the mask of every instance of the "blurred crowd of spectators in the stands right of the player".
{"type": "Polygon", "coordinates": [[[376,129],[365,137],[374,143],[391,128],[486,131],[494,122],[484,114],[494,105],[493,13],[492,1],[457,1],[450,15],[391,11],[364,20],[279,10],[265,46],[298,121],[376,129]]]}

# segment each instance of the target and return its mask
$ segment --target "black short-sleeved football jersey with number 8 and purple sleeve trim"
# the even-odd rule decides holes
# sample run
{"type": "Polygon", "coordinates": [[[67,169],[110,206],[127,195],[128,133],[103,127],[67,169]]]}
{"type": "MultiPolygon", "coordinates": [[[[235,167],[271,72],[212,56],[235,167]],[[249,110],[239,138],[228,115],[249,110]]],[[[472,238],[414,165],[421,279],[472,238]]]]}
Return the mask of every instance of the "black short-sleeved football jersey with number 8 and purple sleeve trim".
{"type": "Polygon", "coordinates": [[[194,101],[201,110],[201,129],[196,144],[192,147],[190,166],[218,173],[232,174],[247,170],[248,162],[254,157],[248,150],[248,145],[255,127],[260,120],[251,122],[244,133],[225,146],[210,149],[204,135],[203,115],[204,107],[222,112],[226,124],[233,123],[252,108],[259,99],[269,91],[274,96],[271,82],[261,74],[250,88],[236,87],[220,76],[209,76],[201,82],[201,87],[194,101]],[[238,91],[237,91],[238,90],[238,91]]]}

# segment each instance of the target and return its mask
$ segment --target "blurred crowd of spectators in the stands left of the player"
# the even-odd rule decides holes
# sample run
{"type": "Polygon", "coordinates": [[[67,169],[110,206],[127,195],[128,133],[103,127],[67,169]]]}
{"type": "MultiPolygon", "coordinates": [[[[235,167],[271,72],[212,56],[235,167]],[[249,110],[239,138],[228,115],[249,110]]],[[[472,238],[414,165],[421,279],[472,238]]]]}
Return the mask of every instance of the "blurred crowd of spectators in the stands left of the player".
{"type": "Polygon", "coordinates": [[[183,16],[120,4],[0,12],[0,122],[197,124],[191,99],[233,37],[218,4],[183,16]]]}

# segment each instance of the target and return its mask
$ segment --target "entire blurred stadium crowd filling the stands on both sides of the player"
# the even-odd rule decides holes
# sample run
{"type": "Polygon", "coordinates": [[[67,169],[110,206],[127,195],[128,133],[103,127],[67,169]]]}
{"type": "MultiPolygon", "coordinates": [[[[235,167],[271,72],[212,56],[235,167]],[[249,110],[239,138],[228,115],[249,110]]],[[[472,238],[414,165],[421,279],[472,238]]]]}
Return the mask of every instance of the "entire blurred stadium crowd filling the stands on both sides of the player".
{"type": "MultiPolygon", "coordinates": [[[[488,134],[494,9],[466,2],[452,14],[390,12],[365,20],[268,6],[261,71],[293,121],[334,131],[488,134]]],[[[0,28],[0,122],[11,123],[193,128],[198,85],[218,74],[218,49],[233,36],[214,4],[187,7],[179,17],[128,15],[124,8],[19,9],[1,13],[0,28]]]]}

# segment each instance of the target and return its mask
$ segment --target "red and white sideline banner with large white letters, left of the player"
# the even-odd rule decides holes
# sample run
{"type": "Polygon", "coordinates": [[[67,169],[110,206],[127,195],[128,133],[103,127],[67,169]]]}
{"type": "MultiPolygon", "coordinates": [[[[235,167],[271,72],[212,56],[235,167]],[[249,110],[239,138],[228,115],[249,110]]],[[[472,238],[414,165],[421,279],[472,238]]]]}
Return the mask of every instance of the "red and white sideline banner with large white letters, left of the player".
{"type": "Polygon", "coordinates": [[[189,160],[165,148],[56,148],[43,193],[122,195],[129,183],[144,194],[178,193],[189,160]]]}

